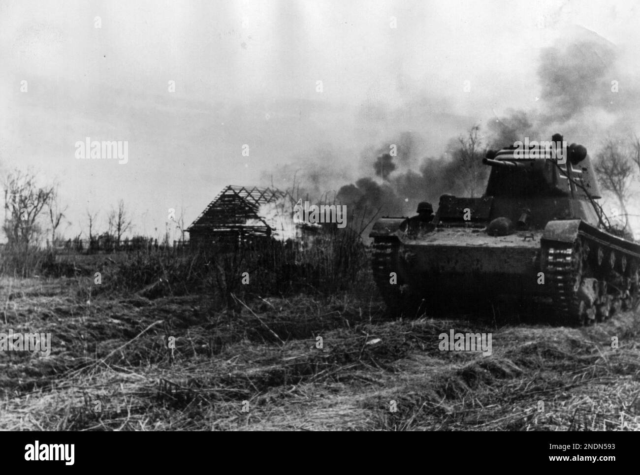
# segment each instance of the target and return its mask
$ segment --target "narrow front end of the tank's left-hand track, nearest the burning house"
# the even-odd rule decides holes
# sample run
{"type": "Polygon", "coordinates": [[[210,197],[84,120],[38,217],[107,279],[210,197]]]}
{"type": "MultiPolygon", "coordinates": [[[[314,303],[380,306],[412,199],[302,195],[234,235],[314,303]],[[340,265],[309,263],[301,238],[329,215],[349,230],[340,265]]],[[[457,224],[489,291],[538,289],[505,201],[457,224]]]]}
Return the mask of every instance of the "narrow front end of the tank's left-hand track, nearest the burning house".
{"type": "Polygon", "coordinates": [[[371,267],[373,280],[380,289],[382,298],[389,309],[397,309],[402,302],[401,282],[397,269],[400,241],[395,236],[388,238],[374,238],[372,246],[371,267]],[[398,276],[397,284],[389,282],[391,272],[398,276]]]}

